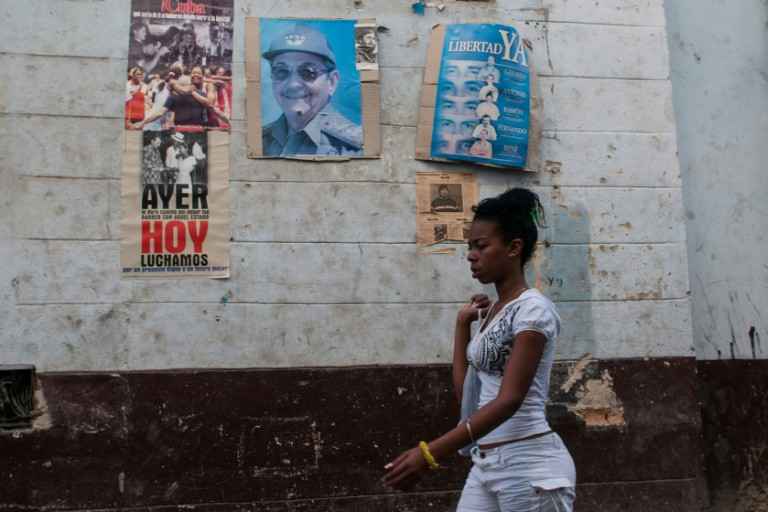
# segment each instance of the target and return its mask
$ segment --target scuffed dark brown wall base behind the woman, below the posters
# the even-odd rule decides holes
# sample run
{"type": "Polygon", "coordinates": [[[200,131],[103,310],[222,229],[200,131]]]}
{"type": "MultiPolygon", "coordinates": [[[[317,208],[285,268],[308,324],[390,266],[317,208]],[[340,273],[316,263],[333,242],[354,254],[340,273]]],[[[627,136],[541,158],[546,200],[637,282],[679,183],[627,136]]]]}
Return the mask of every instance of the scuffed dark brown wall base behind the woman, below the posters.
{"type": "MultiPolygon", "coordinates": [[[[578,510],[699,510],[695,360],[559,364],[552,380],[578,510]]],[[[455,425],[444,365],[51,373],[39,385],[46,417],[0,434],[0,511],[442,512],[468,469],[443,461],[408,494],[379,483],[394,455],[455,425]]]]}

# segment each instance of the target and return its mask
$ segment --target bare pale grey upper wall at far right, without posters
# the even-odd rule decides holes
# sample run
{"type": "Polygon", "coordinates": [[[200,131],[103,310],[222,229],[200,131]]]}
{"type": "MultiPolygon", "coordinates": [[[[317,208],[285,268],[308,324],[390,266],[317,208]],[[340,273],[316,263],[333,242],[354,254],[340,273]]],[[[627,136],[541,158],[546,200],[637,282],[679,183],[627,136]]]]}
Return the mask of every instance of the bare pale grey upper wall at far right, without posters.
{"type": "Polygon", "coordinates": [[[696,354],[765,359],[768,4],[674,0],[667,15],[696,354]]]}

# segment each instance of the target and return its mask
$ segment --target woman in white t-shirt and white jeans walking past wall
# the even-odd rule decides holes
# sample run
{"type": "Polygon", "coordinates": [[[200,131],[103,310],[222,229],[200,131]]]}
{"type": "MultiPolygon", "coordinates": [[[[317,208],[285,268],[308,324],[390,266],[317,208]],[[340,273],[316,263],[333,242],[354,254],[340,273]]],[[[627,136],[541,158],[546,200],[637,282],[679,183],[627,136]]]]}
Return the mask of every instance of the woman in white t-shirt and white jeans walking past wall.
{"type": "Polygon", "coordinates": [[[570,512],[576,471],[545,415],[560,317],[523,272],[544,211],[536,194],[516,188],[474,212],[467,260],[473,278],[495,285],[498,300],[475,295],[456,318],[453,380],[462,421],[387,464],[384,483],[407,488],[461,449],[473,465],[458,512],[570,512]]]}

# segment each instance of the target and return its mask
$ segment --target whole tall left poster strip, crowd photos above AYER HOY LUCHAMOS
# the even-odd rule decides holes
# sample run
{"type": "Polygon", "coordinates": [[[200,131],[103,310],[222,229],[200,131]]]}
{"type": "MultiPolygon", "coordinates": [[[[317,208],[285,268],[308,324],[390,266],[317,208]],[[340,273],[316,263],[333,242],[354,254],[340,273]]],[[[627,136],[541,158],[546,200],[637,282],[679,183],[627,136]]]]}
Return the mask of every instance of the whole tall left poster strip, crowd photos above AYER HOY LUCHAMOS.
{"type": "Polygon", "coordinates": [[[229,277],[233,1],[131,0],[123,277],[229,277]]]}

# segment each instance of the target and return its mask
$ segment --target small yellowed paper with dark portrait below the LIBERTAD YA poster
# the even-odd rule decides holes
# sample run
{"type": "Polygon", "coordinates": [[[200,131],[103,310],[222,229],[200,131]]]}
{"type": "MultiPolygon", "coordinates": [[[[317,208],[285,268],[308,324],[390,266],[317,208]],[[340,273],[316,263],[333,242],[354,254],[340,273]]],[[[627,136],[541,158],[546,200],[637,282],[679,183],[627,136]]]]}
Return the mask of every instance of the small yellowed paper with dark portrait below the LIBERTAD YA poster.
{"type": "Polygon", "coordinates": [[[471,173],[416,173],[416,243],[434,248],[468,237],[477,181],[471,173]]]}

